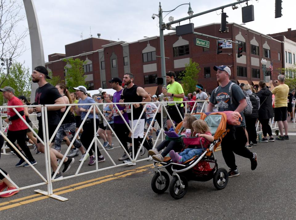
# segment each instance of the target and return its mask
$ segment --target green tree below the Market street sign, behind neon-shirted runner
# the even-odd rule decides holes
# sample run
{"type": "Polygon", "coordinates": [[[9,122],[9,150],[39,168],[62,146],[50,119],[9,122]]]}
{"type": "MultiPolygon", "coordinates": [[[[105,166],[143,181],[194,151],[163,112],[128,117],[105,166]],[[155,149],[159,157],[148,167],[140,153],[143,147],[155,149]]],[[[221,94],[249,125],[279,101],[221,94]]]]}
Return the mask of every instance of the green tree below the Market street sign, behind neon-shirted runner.
{"type": "Polygon", "coordinates": [[[185,71],[182,72],[184,76],[180,77],[185,95],[195,91],[195,86],[198,83],[199,71],[199,64],[192,62],[192,59],[190,59],[189,64],[185,64],[185,71]]]}

